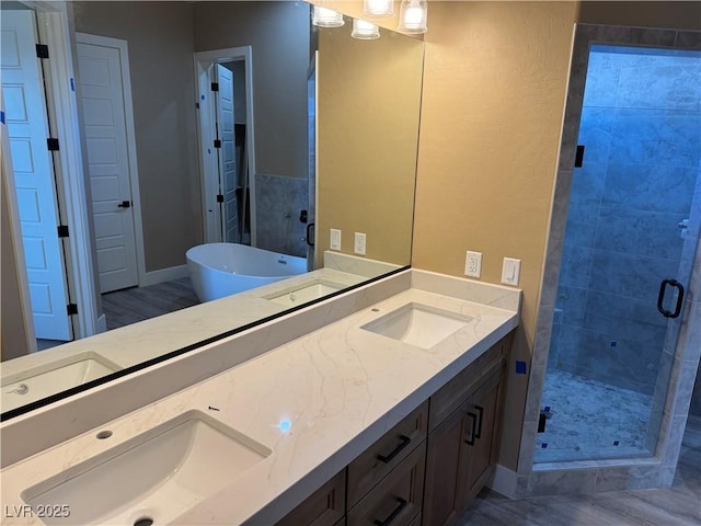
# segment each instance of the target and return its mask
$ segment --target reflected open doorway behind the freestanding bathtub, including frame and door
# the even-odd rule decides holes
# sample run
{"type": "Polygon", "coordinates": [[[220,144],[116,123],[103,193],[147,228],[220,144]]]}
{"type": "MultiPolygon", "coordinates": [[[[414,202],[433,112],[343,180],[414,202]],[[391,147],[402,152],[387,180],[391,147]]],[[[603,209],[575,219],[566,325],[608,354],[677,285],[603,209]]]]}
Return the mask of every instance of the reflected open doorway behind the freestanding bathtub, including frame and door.
{"type": "Polygon", "coordinates": [[[251,47],[195,54],[205,242],[256,245],[251,47]]]}

